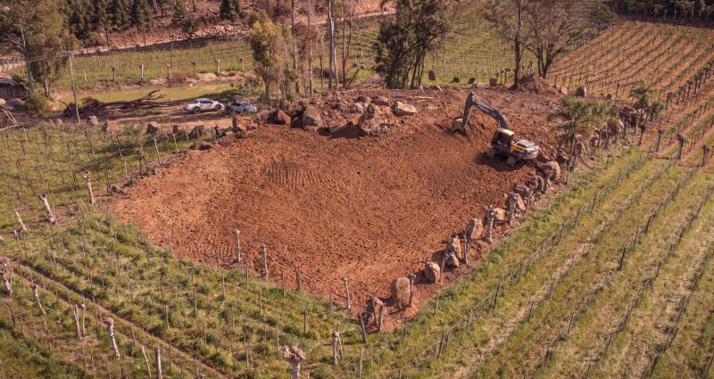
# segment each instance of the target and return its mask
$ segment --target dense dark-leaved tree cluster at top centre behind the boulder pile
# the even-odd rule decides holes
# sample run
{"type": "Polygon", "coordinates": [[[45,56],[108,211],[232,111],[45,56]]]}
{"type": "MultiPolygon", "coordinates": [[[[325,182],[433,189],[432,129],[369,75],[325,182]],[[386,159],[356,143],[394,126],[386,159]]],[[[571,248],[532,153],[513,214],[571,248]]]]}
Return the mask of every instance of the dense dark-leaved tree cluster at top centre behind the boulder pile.
{"type": "Polygon", "coordinates": [[[374,45],[375,70],[386,87],[421,84],[427,54],[450,30],[448,9],[443,0],[396,0],[394,19],[379,27],[374,45]]]}

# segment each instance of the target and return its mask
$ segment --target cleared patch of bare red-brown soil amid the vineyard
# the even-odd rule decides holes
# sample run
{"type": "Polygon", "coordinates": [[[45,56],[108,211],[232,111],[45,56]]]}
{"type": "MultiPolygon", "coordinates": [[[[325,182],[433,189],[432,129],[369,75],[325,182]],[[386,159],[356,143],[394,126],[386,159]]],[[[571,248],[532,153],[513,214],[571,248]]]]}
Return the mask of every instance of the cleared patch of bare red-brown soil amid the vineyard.
{"type": "MultiPolygon", "coordinates": [[[[553,155],[545,117],[557,97],[503,89],[478,94],[503,111],[518,136],[534,138],[553,155]]],[[[370,296],[388,297],[395,277],[419,274],[420,262],[441,251],[469,218],[483,217],[486,204],[502,206],[535,168],[486,158],[496,124],[480,113],[467,136],[445,130],[461,115],[465,90],[365,95],[409,96],[419,114],[385,135],[356,139],[260,126],[211,151],[188,152],[131,187],[114,209],[154,243],[167,246],[170,233],[174,251],[198,260],[215,262],[219,251],[223,264],[235,264],[233,230],[239,229],[244,257],[262,271],[265,243],[270,275],[285,273],[290,287],[298,267],[303,291],[333,292],[337,302],[344,301],[342,277],[349,277],[355,310],[370,296]]],[[[436,288],[419,284],[417,305],[436,288]]]]}

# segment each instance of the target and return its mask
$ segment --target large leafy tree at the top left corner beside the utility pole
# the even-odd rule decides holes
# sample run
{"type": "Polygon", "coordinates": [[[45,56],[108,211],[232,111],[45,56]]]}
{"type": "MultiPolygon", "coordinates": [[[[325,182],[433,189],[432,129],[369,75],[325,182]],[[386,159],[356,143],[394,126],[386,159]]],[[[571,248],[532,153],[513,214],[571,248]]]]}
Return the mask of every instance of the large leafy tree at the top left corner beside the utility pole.
{"type": "Polygon", "coordinates": [[[46,96],[66,69],[67,55],[77,39],[67,27],[67,16],[56,0],[12,0],[0,12],[0,44],[21,54],[27,62],[30,94],[34,79],[43,84],[46,96]]]}

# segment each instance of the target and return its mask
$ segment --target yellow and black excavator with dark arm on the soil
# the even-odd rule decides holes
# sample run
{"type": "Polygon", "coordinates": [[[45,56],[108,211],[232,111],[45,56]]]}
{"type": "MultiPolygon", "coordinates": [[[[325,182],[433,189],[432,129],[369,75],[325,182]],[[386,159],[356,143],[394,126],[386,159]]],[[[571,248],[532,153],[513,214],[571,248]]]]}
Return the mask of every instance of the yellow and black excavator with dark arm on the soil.
{"type": "Polygon", "coordinates": [[[496,110],[491,104],[475,93],[470,93],[466,98],[466,106],[463,109],[463,117],[453,121],[452,132],[466,130],[466,125],[469,123],[471,110],[476,107],[479,111],[483,111],[486,115],[495,119],[498,122],[499,128],[496,130],[494,137],[491,139],[491,149],[486,152],[486,156],[493,158],[496,155],[508,157],[506,163],[509,166],[515,166],[519,161],[530,161],[535,159],[540,152],[540,146],[534,141],[527,139],[516,139],[516,134],[511,130],[511,124],[502,113],[496,110]]]}

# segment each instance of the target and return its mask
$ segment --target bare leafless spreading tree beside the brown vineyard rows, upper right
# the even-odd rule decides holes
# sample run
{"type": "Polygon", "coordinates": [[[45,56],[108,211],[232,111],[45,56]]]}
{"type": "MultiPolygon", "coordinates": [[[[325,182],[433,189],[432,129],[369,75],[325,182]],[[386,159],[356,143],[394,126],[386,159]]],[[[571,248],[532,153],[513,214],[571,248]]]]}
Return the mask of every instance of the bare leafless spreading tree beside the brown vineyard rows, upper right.
{"type": "Polygon", "coordinates": [[[560,55],[597,36],[616,20],[602,1],[532,0],[525,14],[529,33],[524,46],[535,55],[542,78],[547,78],[560,55]]]}

